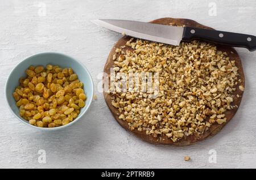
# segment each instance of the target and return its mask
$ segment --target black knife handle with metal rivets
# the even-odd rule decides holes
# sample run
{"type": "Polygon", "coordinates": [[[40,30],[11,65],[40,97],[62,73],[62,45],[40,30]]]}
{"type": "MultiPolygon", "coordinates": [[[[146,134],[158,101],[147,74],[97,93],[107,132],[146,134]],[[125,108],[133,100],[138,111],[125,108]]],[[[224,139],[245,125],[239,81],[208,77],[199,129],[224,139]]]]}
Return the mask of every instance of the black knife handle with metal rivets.
{"type": "Polygon", "coordinates": [[[184,27],[182,40],[191,41],[194,39],[216,42],[217,44],[234,47],[243,47],[250,51],[256,50],[256,37],[252,35],[184,27]]]}

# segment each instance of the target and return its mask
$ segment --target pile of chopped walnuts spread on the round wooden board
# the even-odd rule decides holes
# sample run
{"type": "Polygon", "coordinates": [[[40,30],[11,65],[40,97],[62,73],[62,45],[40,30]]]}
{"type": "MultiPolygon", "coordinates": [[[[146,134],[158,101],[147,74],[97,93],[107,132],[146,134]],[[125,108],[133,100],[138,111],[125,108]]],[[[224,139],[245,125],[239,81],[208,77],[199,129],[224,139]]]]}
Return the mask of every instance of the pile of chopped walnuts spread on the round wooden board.
{"type": "Polygon", "coordinates": [[[142,92],[111,93],[119,119],[131,130],[176,142],[226,122],[224,113],[235,108],[232,92],[239,79],[235,62],[225,52],[200,41],[172,46],[131,38],[126,45],[134,51],[124,46],[115,50],[116,72],[159,72],[156,98],[142,92]]]}

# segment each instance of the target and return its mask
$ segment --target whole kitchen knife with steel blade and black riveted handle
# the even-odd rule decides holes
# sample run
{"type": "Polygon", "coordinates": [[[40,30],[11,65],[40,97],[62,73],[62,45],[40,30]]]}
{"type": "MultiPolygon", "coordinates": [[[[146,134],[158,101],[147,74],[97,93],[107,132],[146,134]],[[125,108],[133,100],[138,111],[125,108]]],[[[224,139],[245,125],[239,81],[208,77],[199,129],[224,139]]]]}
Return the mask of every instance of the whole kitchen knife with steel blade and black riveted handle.
{"type": "Polygon", "coordinates": [[[180,44],[180,41],[197,39],[228,46],[243,47],[250,51],[256,50],[256,37],[241,33],[193,27],[175,27],[131,20],[98,19],[92,22],[112,31],[125,33],[125,35],[176,46],[180,44]]]}

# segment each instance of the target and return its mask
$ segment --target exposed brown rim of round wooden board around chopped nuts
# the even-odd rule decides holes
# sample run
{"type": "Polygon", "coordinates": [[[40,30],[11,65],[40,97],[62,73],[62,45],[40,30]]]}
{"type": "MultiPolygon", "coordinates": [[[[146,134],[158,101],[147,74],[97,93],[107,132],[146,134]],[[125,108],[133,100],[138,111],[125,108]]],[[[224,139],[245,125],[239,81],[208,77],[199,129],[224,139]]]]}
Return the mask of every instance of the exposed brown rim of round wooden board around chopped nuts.
{"type": "MultiPolygon", "coordinates": [[[[194,20],[190,20],[190,19],[162,18],[162,19],[153,20],[150,23],[164,24],[164,25],[176,25],[176,26],[185,25],[187,27],[213,29],[213,28],[207,27],[205,25],[199,24],[199,23],[195,22],[194,20]]],[[[126,42],[129,41],[130,38],[131,38],[130,36],[123,36],[120,40],[117,41],[117,43],[114,45],[114,47],[110,51],[108,59],[105,64],[105,67],[104,67],[104,72],[106,72],[108,75],[110,75],[110,68],[113,67],[113,63],[114,63],[113,55],[115,54],[115,49],[117,49],[121,46],[126,46],[126,42]]],[[[127,47],[127,46],[125,49],[133,51],[133,49],[131,49],[130,47],[127,47]]],[[[239,106],[241,99],[242,99],[243,92],[240,91],[238,86],[243,85],[243,87],[245,87],[245,76],[243,74],[241,59],[240,59],[239,55],[237,54],[236,50],[232,47],[217,45],[217,49],[221,50],[222,52],[228,53],[228,56],[230,57],[230,59],[236,61],[236,66],[238,67],[238,73],[240,75],[239,79],[241,79],[241,82],[238,82],[238,84],[236,86],[237,90],[233,92],[234,101],[233,101],[232,105],[239,106]],[[240,95],[240,97],[237,97],[236,95],[240,95]]],[[[122,121],[121,119],[118,118],[119,117],[118,114],[120,114],[120,113],[118,112],[118,109],[115,108],[111,104],[111,96],[112,96],[111,94],[104,92],[104,98],[105,98],[106,104],[108,105],[110,111],[112,112],[115,120],[119,123],[119,125],[121,125],[123,128],[125,128],[126,130],[128,130],[131,133],[133,133],[134,135],[136,135],[138,138],[141,138],[141,139],[145,140],[146,142],[150,142],[150,143],[154,143],[154,144],[174,144],[177,146],[183,146],[183,145],[193,144],[199,140],[204,140],[205,138],[208,138],[209,136],[216,135],[217,132],[219,132],[221,130],[221,128],[224,127],[226,125],[226,123],[228,123],[232,119],[232,117],[234,116],[234,114],[236,114],[237,109],[238,109],[238,108],[234,108],[234,109],[226,111],[225,112],[226,122],[222,123],[221,125],[214,123],[214,125],[212,125],[208,131],[205,131],[204,134],[201,134],[200,136],[195,136],[195,135],[184,136],[183,139],[180,139],[177,142],[173,142],[170,138],[167,138],[166,136],[159,136],[158,138],[154,138],[152,135],[146,135],[145,131],[139,132],[136,129],[131,131],[128,123],[126,121],[122,121]]]]}

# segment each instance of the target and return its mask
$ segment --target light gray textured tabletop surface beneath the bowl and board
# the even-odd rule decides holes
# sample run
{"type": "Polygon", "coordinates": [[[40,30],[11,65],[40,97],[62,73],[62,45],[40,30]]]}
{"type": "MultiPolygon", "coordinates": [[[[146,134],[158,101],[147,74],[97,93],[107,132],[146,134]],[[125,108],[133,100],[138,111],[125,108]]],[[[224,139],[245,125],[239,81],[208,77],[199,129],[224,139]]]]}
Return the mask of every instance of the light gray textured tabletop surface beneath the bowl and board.
{"type": "Polygon", "coordinates": [[[19,122],[4,95],[11,69],[41,52],[79,59],[97,87],[97,75],[121,35],[97,27],[92,19],[190,18],[216,29],[256,35],[255,16],[255,0],[0,0],[0,168],[256,168],[256,54],[246,49],[237,48],[246,79],[237,114],[219,134],[188,147],[152,145],[135,138],[115,122],[97,91],[98,100],[81,121],[55,132],[19,122]],[[209,15],[209,2],[216,3],[216,16],[209,15]],[[39,149],[46,151],[46,164],[38,162],[39,149]],[[208,162],[210,149],[217,152],[216,164],[208,162]],[[187,155],[189,162],[183,160],[187,155]]]}

